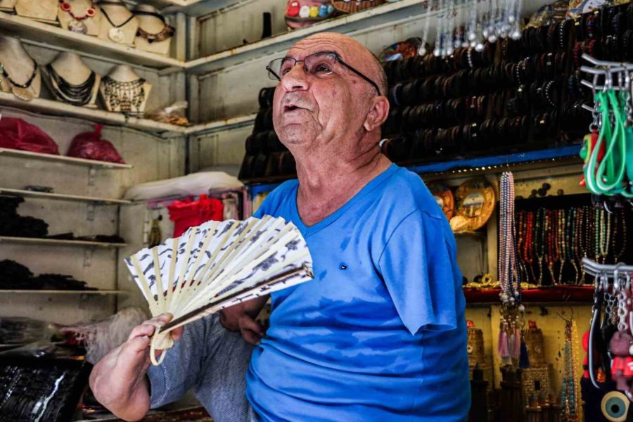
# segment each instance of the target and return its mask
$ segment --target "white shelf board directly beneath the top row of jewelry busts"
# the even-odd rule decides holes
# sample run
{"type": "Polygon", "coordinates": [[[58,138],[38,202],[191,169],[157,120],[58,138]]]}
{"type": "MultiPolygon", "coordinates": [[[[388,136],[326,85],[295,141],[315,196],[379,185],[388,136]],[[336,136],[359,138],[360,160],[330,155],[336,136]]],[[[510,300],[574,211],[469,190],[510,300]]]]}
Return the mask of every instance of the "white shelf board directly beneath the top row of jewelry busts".
{"type": "Polygon", "coordinates": [[[116,44],[86,34],[77,34],[60,27],[37,22],[18,15],[0,12],[0,32],[20,37],[26,42],[46,44],[53,50],[67,49],[84,55],[98,56],[117,62],[134,63],[148,68],[184,68],[184,61],[148,53],[134,47],[116,44]]]}

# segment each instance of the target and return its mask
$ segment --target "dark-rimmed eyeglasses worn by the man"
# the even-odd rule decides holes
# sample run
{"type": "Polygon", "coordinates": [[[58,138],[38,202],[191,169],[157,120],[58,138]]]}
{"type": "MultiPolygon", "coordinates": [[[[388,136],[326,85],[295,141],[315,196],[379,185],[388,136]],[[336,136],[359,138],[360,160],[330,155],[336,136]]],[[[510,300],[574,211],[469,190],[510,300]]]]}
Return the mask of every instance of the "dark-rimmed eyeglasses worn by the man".
{"type": "Polygon", "coordinates": [[[381,90],[378,89],[378,84],[376,84],[376,82],[373,82],[369,79],[369,77],[366,77],[361,72],[345,63],[336,53],[314,53],[303,60],[297,60],[292,57],[276,58],[271,60],[271,62],[266,66],[266,70],[268,70],[268,77],[270,79],[281,81],[281,78],[290,72],[290,70],[292,70],[299,62],[303,62],[303,70],[306,73],[315,77],[331,75],[334,72],[336,63],[338,62],[345,66],[345,68],[351,70],[356,75],[359,75],[359,77],[362,77],[369,82],[371,86],[376,89],[376,93],[381,95],[381,90]]]}

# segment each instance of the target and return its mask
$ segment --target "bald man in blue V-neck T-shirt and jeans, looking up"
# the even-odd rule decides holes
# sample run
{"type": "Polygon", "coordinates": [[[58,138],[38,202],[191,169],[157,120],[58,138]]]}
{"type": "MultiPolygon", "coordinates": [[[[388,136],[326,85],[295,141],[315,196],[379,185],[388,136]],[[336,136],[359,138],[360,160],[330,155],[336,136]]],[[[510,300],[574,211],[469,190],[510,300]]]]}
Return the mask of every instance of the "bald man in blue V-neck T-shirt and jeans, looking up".
{"type": "Polygon", "coordinates": [[[449,224],[421,179],[381,155],[385,74],[361,44],[316,34],[267,70],[274,127],[298,181],[257,215],[298,226],[314,280],[175,333],[148,369],[152,323],[99,362],[94,393],[122,418],[194,388],[216,421],[463,421],[470,407],[465,301],[449,224]],[[245,341],[246,340],[246,341],[245,341]],[[248,343],[255,345],[252,348],[248,343]],[[147,376],[146,376],[147,373],[147,376]],[[247,400],[248,399],[248,400],[247,400]]]}

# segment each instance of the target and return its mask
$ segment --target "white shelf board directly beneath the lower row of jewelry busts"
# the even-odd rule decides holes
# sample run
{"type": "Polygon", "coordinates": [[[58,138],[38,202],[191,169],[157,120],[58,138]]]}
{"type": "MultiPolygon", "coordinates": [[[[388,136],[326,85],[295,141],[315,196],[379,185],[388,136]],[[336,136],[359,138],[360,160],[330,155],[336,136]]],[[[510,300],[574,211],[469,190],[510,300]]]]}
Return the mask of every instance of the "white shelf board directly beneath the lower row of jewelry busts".
{"type": "Polygon", "coordinates": [[[77,107],[60,101],[46,100],[43,98],[34,98],[31,101],[24,101],[10,92],[0,92],[0,109],[1,106],[34,111],[46,115],[78,117],[91,122],[102,122],[116,126],[124,126],[132,129],[139,129],[144,132],[183,135],[187,129],[186,127],[177,126],[175,124],[155,122],[154,120],[141,119],[139,117],[126,117],[122,113],[113,113],[95,108],[77,107]]]}

